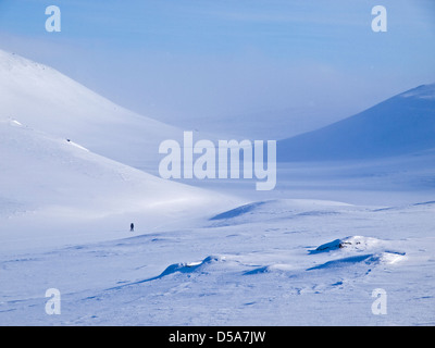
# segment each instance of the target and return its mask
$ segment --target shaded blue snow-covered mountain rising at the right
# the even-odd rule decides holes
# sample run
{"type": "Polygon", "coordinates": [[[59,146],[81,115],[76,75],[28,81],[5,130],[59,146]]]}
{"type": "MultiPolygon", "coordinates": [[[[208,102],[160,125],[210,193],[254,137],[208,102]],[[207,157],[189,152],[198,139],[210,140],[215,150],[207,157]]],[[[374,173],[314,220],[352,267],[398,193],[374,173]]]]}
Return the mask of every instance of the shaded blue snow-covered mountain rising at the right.
{"type": "Polygon", "coordinates": [[[278,161],[374,159],[435,148],[435,84],[321,129],[284,139],[278,161]]]}

